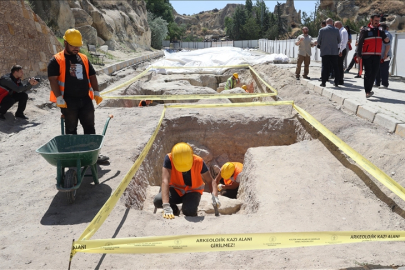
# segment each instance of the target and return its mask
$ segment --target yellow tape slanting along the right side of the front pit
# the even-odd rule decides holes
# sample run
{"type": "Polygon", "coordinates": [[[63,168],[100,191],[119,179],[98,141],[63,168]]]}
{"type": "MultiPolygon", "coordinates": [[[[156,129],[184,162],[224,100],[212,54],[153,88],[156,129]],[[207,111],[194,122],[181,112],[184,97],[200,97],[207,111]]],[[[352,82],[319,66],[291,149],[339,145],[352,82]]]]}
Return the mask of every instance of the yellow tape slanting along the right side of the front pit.
{"type": "Polygon", "coordinates": [[[385,172],[383,172],[380,168],[375,166],[371,163],[368,159],[360,155],[356,150],[351,148],[347,145],[344,141],[342,141],[338,136],[333,134],[329,129],[327,129],[324,125],[319,123],[312,115],[298,107],[297,105],[293,105],[294,109],[308,122],[310,123],[315,129],[321,132],[326,138],[328,138],[334,145],[339,147],[346,155],[348,155],[351,159],[353,159],[357,164],[359,164],[363,169],[365,169],[368,173],[374,176],[378,181],[380,181],[384,186],[386,186],[389,190],[394,192],[398,195],[402,200],[405,201],[405,188],[402,187],[400,184],[395,182],[391,177],[389,177],[385,172]]]}

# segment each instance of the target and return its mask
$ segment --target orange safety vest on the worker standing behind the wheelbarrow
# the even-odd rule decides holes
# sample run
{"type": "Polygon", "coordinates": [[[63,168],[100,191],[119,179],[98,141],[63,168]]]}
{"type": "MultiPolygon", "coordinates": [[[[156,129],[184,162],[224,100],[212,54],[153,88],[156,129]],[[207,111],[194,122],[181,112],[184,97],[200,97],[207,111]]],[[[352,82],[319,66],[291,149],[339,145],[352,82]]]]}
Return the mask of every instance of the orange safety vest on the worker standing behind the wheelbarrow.
{"type": "MultiPolygon", "coordinates": [[[[66,82],[66,59],[65,59],[65,51],[61,51],[57,54],[55,54],[55,59],[59,64],[59,76],[58,76],[58,85],[59,85],[59,90],[62,94],[62,97],[65,93],[65,82],[66,82]]],[[[90,83],[90,77],[89,77],[89,60],[87,59],[87,56],[79,53],[80,58],[82,59],[82,62],[84,64],[84,68],[86,69],[86,75],[87,75],[87,80],[89,81],[89,96],[93,100],[94,99],[94,91],[93,88],[91,87],[90,83]]],[[[52,102],[56,102],[56,96],[51,90],[51,94],[49,97],[49,100],[52,102]]]]}

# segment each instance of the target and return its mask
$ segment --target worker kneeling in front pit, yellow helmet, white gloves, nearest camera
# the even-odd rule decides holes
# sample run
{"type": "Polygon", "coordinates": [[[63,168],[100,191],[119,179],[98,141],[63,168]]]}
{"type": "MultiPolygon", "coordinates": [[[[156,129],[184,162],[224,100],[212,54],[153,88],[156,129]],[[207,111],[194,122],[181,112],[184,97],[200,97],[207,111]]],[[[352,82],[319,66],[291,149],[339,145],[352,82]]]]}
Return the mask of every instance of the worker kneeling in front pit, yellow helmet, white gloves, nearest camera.
{"type": "Polygon", "coordinates": [[[210,185],[218,208],[217,184],[212,179],[203,159],[193,154],[187,143],[173,146],[165,156],[162,169],[162,188],[153,201],[156,208],[163,208],[163,217],[173,219],[180,210],[176,204],[182,203],[185,216],[197,216],[198,205],[204,191],[204,182],[210,185]]]}

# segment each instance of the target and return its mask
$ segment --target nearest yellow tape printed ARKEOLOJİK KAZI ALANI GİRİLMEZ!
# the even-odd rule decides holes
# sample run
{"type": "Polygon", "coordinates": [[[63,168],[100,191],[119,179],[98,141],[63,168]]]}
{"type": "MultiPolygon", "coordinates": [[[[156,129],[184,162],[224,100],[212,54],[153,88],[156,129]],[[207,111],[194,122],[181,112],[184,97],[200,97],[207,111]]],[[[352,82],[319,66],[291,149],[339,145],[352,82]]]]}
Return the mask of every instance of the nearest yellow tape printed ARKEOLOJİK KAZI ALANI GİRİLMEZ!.
{"type": "Polygon", "coordinates": [[[173,235],[75,241],[83,253],[183,253],[405,241],[405,231],[285,232],[173,235]]]}

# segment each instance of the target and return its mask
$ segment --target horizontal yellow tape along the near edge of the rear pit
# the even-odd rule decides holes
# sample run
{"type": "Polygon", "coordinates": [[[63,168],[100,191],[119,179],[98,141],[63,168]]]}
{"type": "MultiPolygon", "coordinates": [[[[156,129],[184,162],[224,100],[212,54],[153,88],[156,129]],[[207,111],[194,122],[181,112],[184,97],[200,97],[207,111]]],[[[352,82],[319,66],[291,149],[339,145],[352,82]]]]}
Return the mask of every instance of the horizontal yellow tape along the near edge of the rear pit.
{"type": "Polygon", "coordinates": [[[196,95],[125,95],[103,96],[103,99],[133,100],[192,100],[192,99],[225,99],[225,98],[257,98],[272,97],[275,93],[243,93],[243,94],[196,94],[196,95]]]}

